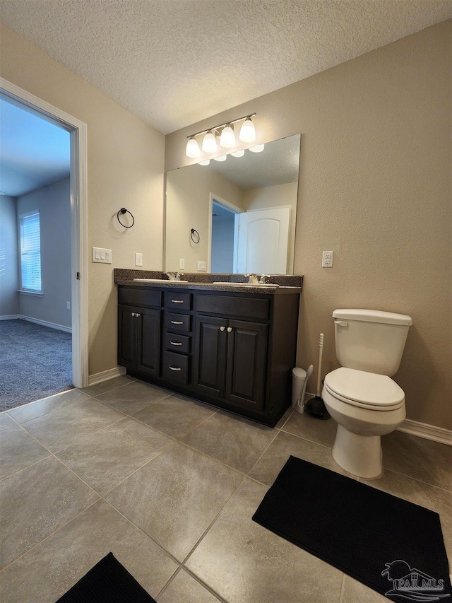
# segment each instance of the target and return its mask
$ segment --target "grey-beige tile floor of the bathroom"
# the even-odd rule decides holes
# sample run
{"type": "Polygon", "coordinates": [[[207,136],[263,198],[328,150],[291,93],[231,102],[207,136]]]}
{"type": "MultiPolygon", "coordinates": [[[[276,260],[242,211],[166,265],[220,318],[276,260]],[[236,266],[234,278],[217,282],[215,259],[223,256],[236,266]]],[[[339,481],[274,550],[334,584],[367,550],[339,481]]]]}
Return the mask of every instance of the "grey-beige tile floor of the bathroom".
{"type": "MultiPolygon", "coordinates": [[[[251,521],[289,455],[344,473],[335,423],[275,429],[129,377],[0,414],[0,600],[54,603],[109,551],[158,603],[373,603],[373,590],[251,521]]],[[[395,432],[367,481],[441,515],[452,449],[395,432]]]]}

